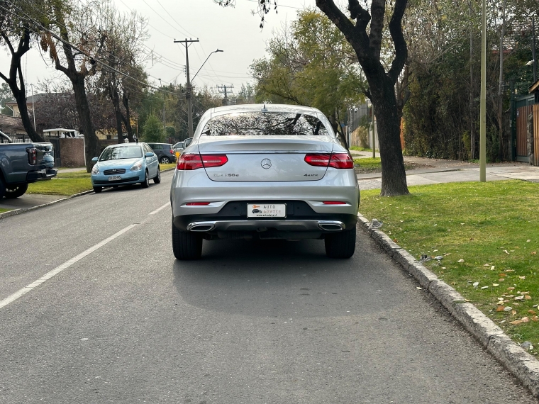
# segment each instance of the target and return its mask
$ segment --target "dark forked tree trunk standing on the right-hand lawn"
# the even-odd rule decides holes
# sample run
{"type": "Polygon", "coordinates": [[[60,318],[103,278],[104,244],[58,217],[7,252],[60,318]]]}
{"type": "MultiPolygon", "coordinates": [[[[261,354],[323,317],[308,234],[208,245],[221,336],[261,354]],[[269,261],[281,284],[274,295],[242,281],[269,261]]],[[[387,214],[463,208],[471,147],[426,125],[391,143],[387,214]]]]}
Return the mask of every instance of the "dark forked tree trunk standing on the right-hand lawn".
{"type": "MultiPolygon", "coordinates": [[[[235,4],[235,0],[213,1],[221,6],[235,4]]],[[[318,9],[328,16],[352,46],[369,84],[367,93],[374,106],[378,124],[382,196],[409,193],[401,150],[401,120],[395,94],[395,85],[408,57],[402,30],[407,1],[372,0],[362,6],[358,0],[348,0],[347,16],[334,0],[316,0],[318,9]],[[388,29],[384,29],[386,24],[388,29]]],[[[258,5],[263,25],[263,16],[270,12],[272,5],[274,9],[277,8],[277,1],[258,0],[258,5]]]]}

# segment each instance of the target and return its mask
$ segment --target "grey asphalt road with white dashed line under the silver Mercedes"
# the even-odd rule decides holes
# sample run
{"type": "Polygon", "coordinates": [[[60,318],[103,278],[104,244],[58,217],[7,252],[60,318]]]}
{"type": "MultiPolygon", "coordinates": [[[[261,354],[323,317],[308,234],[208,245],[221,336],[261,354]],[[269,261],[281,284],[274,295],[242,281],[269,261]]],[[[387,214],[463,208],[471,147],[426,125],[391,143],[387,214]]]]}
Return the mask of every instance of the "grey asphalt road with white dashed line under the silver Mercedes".
{"type": "Polygon", "coordinates": [[[175,261],[171,178],[0,220],[0,403],[537,403],[361,230],[175,261]]]}

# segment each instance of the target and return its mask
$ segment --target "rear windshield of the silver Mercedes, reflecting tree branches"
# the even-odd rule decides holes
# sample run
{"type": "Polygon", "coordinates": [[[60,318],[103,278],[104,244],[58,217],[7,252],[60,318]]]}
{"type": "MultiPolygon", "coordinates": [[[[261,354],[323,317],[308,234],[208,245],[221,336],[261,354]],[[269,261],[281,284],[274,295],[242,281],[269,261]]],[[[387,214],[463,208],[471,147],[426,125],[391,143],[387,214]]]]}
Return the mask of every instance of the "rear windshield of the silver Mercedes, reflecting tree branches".
{"type": "Polygon", "coordinates": [[[201,136],[327,136],[316,116],[302,113],[242,112],[211,118],[201,136]]]}

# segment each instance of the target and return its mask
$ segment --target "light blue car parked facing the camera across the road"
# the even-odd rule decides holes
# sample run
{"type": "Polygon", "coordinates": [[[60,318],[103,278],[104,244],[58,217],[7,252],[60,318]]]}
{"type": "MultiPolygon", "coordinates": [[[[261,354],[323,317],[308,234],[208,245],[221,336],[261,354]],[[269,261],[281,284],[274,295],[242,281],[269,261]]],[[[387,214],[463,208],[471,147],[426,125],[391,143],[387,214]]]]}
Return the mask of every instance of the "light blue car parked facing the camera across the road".
{"type": "Polygon", "coordinates": [[[101,192],[106,186],[131,185],[140,183],[143,188],[161,182],[161,172],[157,155],[146,143],[119,143],[107,146],[101,156],[91,159],[95,162],[91,169],[91,186],[101,192]]]}

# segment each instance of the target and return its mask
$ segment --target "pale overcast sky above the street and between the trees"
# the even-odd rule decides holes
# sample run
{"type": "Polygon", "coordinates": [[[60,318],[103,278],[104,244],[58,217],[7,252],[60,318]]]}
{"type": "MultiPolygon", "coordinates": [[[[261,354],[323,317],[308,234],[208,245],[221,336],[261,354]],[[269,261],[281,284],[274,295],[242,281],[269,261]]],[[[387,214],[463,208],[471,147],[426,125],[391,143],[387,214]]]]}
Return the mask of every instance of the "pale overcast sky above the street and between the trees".
{"type": "MultiPolygon", "coordinates": [[[[82,1],[82,0],[79,0],[82,1]]],[[[216,49],[193,81],[196,86],[233,85],[236,93],[241,84],[251,82],[249,65],[265,55],[265,44],[274,30],[296,19],[304,7],[315,7],[315,0],[278,0],[276,14],[273,10],[266,16],[265,28],[260,30],[260,17],[252,15],[257,8],[255,0],[236,0],[235,7],[222,8],[213,0],[113,0],[121,11],[136,10],[148,18],[150,38],[146,50],[153,50],[153,62],[149,60],[147,72],[150,82],[158,85],[172,82],[185,83],[185,47],[176,40],[199,39],[189,46],[189,72],[191,79],[206,57],[216,49]]],[[[4,52],[0,69],[7,73],[9,55],[4,52]]],[[[35,48],[23,61],[26,82],[37,86],[58,77],[50,60],[35,48]],[[45,60],[45,61],[44,61],[45,60]],[[49,67],[45,64],[47,62],[49,67]]],[[[35,90],[35,88],[34,88],[35,90]]],[[[37,91],[35,91],[37,92],[37,91]]],[[[30,94],[30,91],[28,91],[30,94]]]]}

